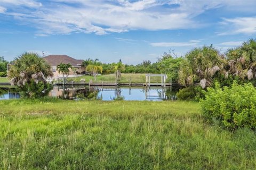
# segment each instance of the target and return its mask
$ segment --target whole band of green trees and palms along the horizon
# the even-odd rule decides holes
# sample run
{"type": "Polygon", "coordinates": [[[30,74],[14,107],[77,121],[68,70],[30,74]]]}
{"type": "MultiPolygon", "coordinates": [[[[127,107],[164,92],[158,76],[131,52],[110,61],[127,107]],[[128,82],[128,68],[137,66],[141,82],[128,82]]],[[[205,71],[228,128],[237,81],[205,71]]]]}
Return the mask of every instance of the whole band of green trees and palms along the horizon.
{"type": "MultiPolygon", "coordinates": [[[[7,63],[4,57],[0,57],[0,71],[7,70],[7,63]]],[[[35,53],[23,53],[12,63],[8,75],[11,84],[25,88],[23,91],[27,92],[31,88],[39,91],[38,93],[49,91],[50,86],[46,84],[45,78],[53,73],[42,57],[35,53]],[[37,87],[37,84],[40,86],[37,87]]],[[[244,41],[241,46],[228,49],[225,54],[221,54],[211,45],[194,48],[184,57],[173,57],[170,52],[164,53],[155,63],[143,61],[138,65],[125,65],[119,60],[117,63],[105,64],[88,58],[83,61],[83,65],[92,73],[94,79],[98,72],[115,73],[117,80],[121,79],[121,72],[166,73],[180,84],[199,83],[202,88],[206,88],[212,86],[214,81],[228,84],[227,79],[253,81],[256,78],[256,40],[244,41]]],[[[64,74],[69,67],[71,66],[60,63],[58,70],[64,74]]]]}

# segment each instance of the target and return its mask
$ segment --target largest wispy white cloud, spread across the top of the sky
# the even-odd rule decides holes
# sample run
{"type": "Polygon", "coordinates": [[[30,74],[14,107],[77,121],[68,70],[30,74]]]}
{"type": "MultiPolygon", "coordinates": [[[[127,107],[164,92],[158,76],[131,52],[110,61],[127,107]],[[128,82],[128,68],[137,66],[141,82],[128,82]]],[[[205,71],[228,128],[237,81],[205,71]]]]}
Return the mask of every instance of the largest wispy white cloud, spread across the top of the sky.
{"type": "MultiPolygon", "coordinates": [[[[234,1],[239,4],[239,8],[251,11],[249,8],[251,3],[234,1]]],[[[111,32],[130,30],[173,30],[202,27],[204,23],[197,22],[195,16],[223,6],[226,6],[226,9],[228,6],[232,6],[233,10],[239,10],[238,5],[233,3],[234,1],[206,0],[195,3],[192,0],[52,0],[41,1],[41,3],[39,0],[1,0],[0,5],[7,8],[7,11],[11,9],[11,12],[5,12],[6,15],[13,16],[22,24],[36,27],[38,34],[84,32],[105,35],[111,32]]],[[[232,21],[226,20],[226,22],[232,21]]],[[[247,32],[250,30],[253,31],[250,27],[247,32]]]]}

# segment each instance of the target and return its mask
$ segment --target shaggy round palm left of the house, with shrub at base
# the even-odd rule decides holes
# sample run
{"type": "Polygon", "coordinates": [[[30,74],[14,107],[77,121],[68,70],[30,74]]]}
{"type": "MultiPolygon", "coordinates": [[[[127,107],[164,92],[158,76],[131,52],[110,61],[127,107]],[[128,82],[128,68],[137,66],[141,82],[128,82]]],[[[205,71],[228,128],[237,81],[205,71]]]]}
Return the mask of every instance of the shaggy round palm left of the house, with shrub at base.
{"type": "Polygon", "coordinates": [[[52,77],[51,66],[36,53],[23,53],[14,60],[8,73],[12,85],[17,85],[23,97],[38,98],[48,95],[51,84],[45,78],[52,77]]]}

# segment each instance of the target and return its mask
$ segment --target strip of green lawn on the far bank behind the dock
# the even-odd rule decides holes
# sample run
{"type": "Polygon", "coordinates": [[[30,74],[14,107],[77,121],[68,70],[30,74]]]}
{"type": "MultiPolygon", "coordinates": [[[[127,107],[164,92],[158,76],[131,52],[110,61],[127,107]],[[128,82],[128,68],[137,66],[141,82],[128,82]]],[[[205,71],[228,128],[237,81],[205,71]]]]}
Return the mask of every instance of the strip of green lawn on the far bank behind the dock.
{"type": "MultiPolygon", "coordinates": [[[[83,75],[82,77],[77,77],[77,78],[69,78],[69,80],[73,81],[80,81],[81,79],[85,79],[86,82],[89,82],[90,80],[93,80],[93,76],[90,75],[83,75]]],[[[100,80],[111,80],[115,81],[115,74],[106,74],[106,75],[97,75],[97,81],[100,80]]],[[[129,83],[131,80],[132,83],[145,83],[146,82],[146,74],[133,74],[133,73],[127,73],[127,74],[122,74],[121,77],[121,83],[129,83]]],[[[160,77],[151,77],[150,82],[161,82],[160,77]]]]}

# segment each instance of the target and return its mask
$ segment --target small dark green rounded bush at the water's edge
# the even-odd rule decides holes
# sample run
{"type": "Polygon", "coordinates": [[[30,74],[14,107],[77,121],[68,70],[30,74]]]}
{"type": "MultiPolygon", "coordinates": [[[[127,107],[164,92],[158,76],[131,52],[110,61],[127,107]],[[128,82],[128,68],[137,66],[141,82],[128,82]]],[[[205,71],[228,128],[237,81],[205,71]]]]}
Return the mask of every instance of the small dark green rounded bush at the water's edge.
{"type": "Polygon", "coordinates": [[[179,100],[195,100],[199,101],[199,99],[204,98],[203,89],[200,86],[189,86],[185,89],[180,89],[177,92],[177,97],[179,100]]]}

